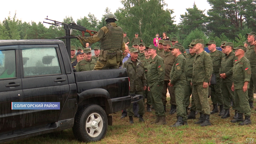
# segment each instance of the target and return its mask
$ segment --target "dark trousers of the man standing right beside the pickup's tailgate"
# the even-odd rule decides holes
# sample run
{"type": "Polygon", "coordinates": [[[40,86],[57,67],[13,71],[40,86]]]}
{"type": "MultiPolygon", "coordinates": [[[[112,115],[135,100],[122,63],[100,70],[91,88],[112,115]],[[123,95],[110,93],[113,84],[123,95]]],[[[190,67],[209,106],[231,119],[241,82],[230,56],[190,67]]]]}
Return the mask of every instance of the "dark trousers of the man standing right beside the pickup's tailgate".
{"type": "MultiPolygon", "coordinates": [[[[136,92],[130,92],[130,94],[136,94],[136,95],[142,95],[143,92],[142,91],[136,91],[136,92]]],[[[139,100],[138,102],[138,105],[139,105],[139,111],[138,111],[138,114],[139,115],[144,115],[144,102],[143,102],[143,99],[139,100]]],[[[134,113],[133,113],[133,103],[130,104],[130,106],[127,108],[127,115],[128,116],[133,116],[134,113]]]]}

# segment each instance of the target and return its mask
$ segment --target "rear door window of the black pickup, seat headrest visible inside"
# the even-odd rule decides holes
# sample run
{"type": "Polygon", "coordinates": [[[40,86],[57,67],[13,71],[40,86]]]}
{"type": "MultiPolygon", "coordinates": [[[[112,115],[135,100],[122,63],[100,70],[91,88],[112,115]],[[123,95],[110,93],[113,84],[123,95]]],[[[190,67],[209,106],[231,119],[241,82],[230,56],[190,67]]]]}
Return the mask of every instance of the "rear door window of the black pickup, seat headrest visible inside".
{"type": "Polygon", "coordinates": [[[24,76],[61,74],[56,49],[22,49],[24,76]]]}

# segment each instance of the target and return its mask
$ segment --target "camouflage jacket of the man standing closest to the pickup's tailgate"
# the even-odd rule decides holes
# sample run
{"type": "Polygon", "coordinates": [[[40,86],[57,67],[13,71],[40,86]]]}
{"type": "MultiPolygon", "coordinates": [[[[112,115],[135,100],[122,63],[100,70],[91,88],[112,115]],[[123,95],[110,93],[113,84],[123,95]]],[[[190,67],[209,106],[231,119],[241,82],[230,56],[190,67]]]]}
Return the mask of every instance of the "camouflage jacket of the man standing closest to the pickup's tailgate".
{"type": "Polygon", "coordinates": [[[127,70],[130,79],[130,92],[143,91],[147,79],[142,62],[136,60],[136,66],[134,66],[131,57],[129,57],[129,59],[123,63],[122,68],[126,68],[127,70]]]}

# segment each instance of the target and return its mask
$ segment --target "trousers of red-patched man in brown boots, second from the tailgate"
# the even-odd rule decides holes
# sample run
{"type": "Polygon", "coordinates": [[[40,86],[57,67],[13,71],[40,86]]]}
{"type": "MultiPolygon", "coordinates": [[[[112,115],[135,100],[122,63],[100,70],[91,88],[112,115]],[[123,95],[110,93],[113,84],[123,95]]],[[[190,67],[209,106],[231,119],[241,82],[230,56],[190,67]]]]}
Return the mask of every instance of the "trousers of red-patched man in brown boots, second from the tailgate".
{"type": "Polygon", "coordinates": [[[150,87],[150,91],[152,93],[151,100],[152,105],[155,109],[156,116],[164,116],[165,110],[163,109],[163,103],[161,100],[161,92],[163,85],[157,86],[155,83],[152,87],[150,87]]]}

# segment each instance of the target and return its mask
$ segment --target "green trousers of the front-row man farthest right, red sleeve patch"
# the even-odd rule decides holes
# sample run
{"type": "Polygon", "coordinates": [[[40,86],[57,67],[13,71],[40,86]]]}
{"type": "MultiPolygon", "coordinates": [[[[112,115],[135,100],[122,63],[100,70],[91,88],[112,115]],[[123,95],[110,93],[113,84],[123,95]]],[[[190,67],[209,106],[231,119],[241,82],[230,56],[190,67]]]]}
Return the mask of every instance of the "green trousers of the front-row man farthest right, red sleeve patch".
{"type": "Polygon", "coordinates": [[[234,97],[236,100],[237,113],[244,113],[245,116],[251,115],[251,108],[248,101],[248,90],[235,89],[234,97]]]}

